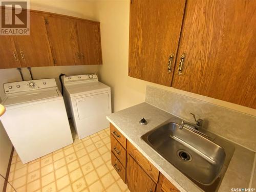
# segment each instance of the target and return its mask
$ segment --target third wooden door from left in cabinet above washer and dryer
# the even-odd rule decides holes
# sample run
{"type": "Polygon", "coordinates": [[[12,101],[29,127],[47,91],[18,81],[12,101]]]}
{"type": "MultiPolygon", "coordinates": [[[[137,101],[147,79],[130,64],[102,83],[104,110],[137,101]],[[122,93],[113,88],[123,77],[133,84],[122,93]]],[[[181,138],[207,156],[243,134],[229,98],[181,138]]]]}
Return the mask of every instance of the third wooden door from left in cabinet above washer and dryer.
{"type": "Polygon", "coordinates": [[[55,66],[77,65],[80,61],[74,21],[51,15],[47,17],[46,27],[55,66]]]}

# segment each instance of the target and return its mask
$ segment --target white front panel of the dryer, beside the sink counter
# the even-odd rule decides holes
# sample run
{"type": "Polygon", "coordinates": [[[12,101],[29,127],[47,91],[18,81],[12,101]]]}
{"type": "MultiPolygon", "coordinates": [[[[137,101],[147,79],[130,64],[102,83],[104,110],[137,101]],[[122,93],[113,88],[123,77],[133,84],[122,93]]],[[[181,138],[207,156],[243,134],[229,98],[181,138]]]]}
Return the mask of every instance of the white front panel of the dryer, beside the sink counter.
{"type": "Polygon", "coordinates": [[[109,90],[90,94],[87,97],[72,99],[73,120],[79,139],[109,127],[109,121],[106,119],[106,116],[111,114],[110,94],[111,92],[109,90]],[[86,98],[85,101],[83,101],[84,98],[86,98]],[[78,113],[80,113],[80,118],[78,113]]]}

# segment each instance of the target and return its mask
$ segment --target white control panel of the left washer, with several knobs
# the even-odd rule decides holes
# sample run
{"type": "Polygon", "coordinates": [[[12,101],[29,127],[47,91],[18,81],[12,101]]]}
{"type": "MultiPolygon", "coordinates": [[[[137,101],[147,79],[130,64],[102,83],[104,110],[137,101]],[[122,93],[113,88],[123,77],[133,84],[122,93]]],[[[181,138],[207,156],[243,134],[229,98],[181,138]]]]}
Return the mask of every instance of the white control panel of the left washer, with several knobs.
{"type": "Polygon", "coordinates": [[[4,83],[5,94],[57,87],[54,78],[4,83]]]}

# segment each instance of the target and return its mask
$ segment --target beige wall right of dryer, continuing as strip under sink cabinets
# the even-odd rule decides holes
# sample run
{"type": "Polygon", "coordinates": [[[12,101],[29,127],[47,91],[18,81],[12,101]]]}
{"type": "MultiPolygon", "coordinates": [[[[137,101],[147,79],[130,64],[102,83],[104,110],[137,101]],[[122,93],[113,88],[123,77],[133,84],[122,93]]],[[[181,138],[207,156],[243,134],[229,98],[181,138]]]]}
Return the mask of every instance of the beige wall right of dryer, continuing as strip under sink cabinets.
{"type": "Polygon", "coordinates": [[[101,23],[103,66],[99,66],[99,76],[112,88],[114,111],[143,102],[146,85],[151,85],[256,116],[256,110],[245,106],[129,77],[129,0],[96,1],[95,10],[96,19],[101,23]]]}

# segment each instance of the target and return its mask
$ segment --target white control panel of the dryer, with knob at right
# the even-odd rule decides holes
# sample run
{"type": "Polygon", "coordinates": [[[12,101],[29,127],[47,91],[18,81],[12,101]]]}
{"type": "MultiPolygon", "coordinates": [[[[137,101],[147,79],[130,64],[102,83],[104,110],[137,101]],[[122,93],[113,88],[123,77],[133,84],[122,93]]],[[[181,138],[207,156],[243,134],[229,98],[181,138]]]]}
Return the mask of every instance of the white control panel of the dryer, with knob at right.
{"type": "Polygon", "coordinates": [[[95,73],[83,74],[83,75],[65,75],[63,76],[63,83],[73,82],[87,82],[87,81],[98,81],[98,77],[95,73]]]}

